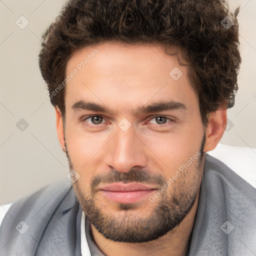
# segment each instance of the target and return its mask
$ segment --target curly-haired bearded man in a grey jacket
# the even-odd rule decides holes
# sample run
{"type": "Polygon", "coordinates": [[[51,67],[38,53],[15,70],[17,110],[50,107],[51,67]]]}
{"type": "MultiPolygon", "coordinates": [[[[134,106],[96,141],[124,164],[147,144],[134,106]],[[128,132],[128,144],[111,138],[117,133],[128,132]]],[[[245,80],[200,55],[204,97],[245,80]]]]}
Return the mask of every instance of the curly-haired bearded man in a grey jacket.
{"type": "Polygon", "coordinates": [[[3,255],[255,253],[255,189],[205,156],[234,104],[237,12],[219,0],[67,2],[39,65],[72,187],[15,202],[3,255]]]}

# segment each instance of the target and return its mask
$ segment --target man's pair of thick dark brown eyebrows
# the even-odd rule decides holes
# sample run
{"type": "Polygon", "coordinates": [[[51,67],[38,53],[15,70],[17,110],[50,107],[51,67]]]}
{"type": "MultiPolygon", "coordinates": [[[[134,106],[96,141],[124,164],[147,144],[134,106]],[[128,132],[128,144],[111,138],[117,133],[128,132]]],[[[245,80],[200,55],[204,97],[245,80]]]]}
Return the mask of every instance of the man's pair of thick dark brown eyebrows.
{"type": "MultiPolygon", "coordinates": [[[[116,116],[116,113],[114,113],[110,108],[108,108],[105,105],[93,103],[93,102],[86,102],[84,100],[79,100],[75,102],[71,108],[75,111],[77,110],[91,110],[91,111],[98,111],[102,113],[108,113],[116,116]]],[[[161,101],[152,103],[147,106],[138,106],[135,110],[132,111],[132,114],[134,116],[139,115],[141,113],[151,113],[151,112],[159,112],[159,111],[166,111],[166,110],[186,110],[186,106],[178,101],[161,101]]]]}

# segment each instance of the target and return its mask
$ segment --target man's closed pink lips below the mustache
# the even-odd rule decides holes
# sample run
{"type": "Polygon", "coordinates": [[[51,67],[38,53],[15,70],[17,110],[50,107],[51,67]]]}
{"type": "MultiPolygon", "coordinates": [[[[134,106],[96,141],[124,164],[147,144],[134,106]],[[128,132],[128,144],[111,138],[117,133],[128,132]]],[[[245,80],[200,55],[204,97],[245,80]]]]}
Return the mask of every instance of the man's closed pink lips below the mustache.
{"type": "Polygon", "coordinates": [[[134,203],[155,192],[156,188],[142,183],[111,183],[99,187],[102,195],[119,203],[134,203]]]}

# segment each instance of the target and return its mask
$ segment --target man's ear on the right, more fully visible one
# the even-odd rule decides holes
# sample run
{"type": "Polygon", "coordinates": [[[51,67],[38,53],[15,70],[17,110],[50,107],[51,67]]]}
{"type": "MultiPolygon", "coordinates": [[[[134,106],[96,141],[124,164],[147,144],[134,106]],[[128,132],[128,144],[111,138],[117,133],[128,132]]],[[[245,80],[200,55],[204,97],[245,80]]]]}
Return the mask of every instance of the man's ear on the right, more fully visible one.
{"type": "Polygon", "coordinates": [[[226,109],[217,109],[208,116],[205,129],[204,152],[213,150],[221,139],[226,127],[226,109]]]}

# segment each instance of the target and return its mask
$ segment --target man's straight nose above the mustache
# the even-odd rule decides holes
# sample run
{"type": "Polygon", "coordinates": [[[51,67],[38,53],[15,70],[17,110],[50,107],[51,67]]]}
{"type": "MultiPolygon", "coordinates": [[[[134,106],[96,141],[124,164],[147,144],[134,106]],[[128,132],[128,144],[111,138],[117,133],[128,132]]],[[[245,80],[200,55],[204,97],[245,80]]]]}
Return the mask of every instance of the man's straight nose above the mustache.
{"type": "Polygon", "coordinates": [[[115,136],[108,143],[105,164],[119,172],[127,172],[135,166],[145,167],[145,147],[132,126],[126,131],[117,128],[115,136]]]}

